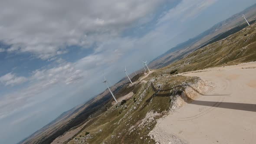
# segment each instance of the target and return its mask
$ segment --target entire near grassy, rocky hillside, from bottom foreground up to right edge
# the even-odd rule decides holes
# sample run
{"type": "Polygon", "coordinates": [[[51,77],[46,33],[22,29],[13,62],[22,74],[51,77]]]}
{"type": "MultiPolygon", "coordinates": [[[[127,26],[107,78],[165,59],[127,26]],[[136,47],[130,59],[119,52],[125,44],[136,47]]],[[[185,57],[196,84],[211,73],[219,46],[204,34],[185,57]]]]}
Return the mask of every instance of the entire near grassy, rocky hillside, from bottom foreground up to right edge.
{"type": "MultiPolygon", "coordinates": [[[[134,82],[134,85],[122,88],[126,94],[134,93],[131,98],[92,118],[90,123],[83,125],[82,130],[64,144],[155,144],[151,130],[157,120],[195,99],[195,95],[187,95],[187,88],[194,87],[200,93],[211,88],[211,83],[199,77],[174,74],[256,61],[255,48],[256,24],[253,24],[225,39],[197,49],[167,67],[152,71],[144,79],[134,82]]],[[[185,144],[178,137],[171,138],[177,144],[185,144]]]]}

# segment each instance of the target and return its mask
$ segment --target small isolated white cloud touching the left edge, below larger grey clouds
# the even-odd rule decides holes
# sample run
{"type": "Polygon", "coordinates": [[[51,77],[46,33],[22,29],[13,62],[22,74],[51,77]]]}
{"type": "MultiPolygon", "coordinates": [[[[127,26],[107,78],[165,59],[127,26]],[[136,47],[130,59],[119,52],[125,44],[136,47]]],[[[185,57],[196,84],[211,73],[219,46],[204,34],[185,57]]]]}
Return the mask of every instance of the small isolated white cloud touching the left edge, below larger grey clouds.
{"type": "Polygon", "coordinates": [[[24,82],[26,82],[27,79],[23,76],[16,76],[12,73],[7,73],[6,75],[3,75],[0,77],[0,83],[4,84],[4,85],[18,85],[18,84],[22,84],[24,82]]]}

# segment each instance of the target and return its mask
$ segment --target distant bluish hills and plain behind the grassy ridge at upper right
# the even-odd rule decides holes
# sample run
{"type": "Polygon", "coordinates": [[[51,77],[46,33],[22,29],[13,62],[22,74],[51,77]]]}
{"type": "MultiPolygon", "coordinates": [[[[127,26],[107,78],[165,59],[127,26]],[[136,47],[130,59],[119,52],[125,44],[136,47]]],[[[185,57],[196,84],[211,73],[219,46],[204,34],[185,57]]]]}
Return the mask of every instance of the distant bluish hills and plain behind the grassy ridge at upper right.
{"type": "Polygon", "coordinates": [[[207,46],[210,43],[214,43],[220,39],[226,38],[226,36],[229,36],[230,34],[240,31],[248,26],[243,17],[241,17],[243,14],[246,15],[249,23],[253,24],[256,19],[256,4],[246,8],[240,13],[234,14],[220,23],[215,24],[212,28],[198,36],[171,48],[161,56],[158,56],[158,58],[151,61],[149,67],[152,69],[162,68],[177,61],[178,59],[181,59],[183,56],[195,49],[202,48],[203,46],[207,46]]]}

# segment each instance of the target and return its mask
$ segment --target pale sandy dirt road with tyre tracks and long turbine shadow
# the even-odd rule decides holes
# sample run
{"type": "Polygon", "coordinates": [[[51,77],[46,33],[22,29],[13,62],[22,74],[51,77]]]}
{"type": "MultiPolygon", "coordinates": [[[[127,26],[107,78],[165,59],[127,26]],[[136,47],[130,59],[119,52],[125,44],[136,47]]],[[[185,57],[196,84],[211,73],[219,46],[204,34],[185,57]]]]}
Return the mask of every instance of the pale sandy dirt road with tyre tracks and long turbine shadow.
{"type": "Polygon", "coordinates": [[[160,119],[156,129],[190,144],[256,144],[255,62],[182,75],[212,81],[216,88],[160,119]]]}

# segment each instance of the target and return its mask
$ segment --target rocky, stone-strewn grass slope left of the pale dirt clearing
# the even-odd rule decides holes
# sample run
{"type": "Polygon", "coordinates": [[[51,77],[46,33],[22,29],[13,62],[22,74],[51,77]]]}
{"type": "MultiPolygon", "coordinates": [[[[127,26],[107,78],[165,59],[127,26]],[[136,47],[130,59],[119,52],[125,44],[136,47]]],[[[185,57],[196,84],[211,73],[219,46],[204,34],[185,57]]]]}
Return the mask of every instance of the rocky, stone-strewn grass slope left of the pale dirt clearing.
{"type": "MultiPolygon", "coordinates": [[[[136,94],[133,98],[128,99],[123,105],[112,106],[79,135],[85,135],[86,131],[90,131],[93,138],[86,140],[90,144],[120,143],[120,141],[154,144],[148,133],[154,128],[156,120],[170,109],[170,89],[177,85],[182,87],[185,82],[194,83],[198,78],[160,75],[157,78],[151,76],[149,79],[151,82],[135,86],[133,91],[136,91],[136,94]],[[145,118],[149,112],[157,115],[150,119],[145,118]]],[[[83,137],[79,135],[76,136],[77,139],[70,141],[70,144],[82,141],[83,137]]]]}

